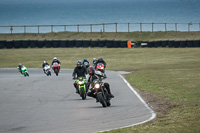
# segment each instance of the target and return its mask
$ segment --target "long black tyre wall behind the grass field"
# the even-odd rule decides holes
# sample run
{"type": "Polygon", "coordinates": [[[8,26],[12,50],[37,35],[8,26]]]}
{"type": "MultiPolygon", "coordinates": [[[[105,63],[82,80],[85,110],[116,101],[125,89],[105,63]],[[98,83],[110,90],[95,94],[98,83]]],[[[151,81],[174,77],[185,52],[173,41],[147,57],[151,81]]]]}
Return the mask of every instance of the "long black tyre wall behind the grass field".
{"type": "MultiPolygon", "coordinates": [[[[127,48],[128,41],[121,40],[15,40],[0,41],[0,49],[3,48],[73,48],[73,47],[107,47],[127,48]]],[[[200,47],[200,40],[163,40],[163,41],[132,41],[132,47],[142,48],[190,48],[200,47]]]]}

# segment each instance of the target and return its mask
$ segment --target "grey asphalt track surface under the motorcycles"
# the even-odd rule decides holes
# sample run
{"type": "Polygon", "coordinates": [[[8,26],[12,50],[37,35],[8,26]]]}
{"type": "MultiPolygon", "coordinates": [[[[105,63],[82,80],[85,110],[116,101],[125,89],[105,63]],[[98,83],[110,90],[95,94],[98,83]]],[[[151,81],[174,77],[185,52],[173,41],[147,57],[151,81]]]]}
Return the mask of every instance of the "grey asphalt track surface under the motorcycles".
{"type": "Polygon", "coordinates": [[[115,98],[103,108],[75,93],[72,70],[46,76],[42,69],[0,69],[0,133],[94,133],[150,121],[155,113],[115,71],[105,80],[115,98]]]}

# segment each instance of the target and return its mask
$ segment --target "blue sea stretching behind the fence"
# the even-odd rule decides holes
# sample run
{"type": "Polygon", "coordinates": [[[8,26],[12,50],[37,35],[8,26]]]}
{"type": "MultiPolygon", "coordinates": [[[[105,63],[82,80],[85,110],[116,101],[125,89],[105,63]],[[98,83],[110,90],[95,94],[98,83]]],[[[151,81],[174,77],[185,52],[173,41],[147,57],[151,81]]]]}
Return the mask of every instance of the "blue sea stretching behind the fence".
{"type": "MultiPolygon", "coordinates": [[[[200,23],[200,0],[1,0],[0,26],[23,25],[78,25],[103,23],[200,23]]],[[[126,31],[127,25],[118,25],[118,31],[126,31]]],[[[151,31],[151,25],[143,28],[151,31]]],[[[163,25],[155,25],[164,30],[163,25]]],[[[168,25],[174,30],[174,25],[168,25]]],[[[187,31],[187,25],[178,29],[187,31]]],[[[63,27],[55,29],[63,31],[63,27]]],[[[77,27],[67,27],[77,31],[77,27]]],[[[102,26],[94,26],[100,32],[102,26]]],[[[139,26],[130,25],[130,32],[139,26]]],[[[144,29],[145,30],[145,29],[144,29]]],[[[198,25],[191,25],[191,31],[199,31],[198,25]]],[[[50,32],[49,27],[41,32],[50,32]]],[[[90,27],[80,27],[80,32],[90,32],[90,27]]],[[[106,26],[107,32],[115,32],[115,25],[106,26]]],[[[21,27],[13,33],[24,32],[21,27]]],[[[37,28],[26,28],[26,32],[37,32],[37,28]]],[[[10,27],[0,27],[0,33],[10,33],[10,27]]]]}

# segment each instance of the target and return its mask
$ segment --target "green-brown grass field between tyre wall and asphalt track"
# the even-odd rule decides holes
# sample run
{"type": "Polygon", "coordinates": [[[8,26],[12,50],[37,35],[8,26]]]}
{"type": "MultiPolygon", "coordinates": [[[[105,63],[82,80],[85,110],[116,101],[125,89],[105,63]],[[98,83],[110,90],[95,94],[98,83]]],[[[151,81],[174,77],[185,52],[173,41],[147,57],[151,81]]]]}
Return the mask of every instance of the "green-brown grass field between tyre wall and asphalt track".
{"type": "Polygon", "coordinates": [[[1,68],[41,68],[44,60],[57,56],[62,68],[74,68],[77,60],[102,56],[107,69],[130,71],[125,75],[157,118],[148,123],[108,133],[197,133],[200,132],[200,49],[199,48],[43,48],[1,49],[1,68]]]}

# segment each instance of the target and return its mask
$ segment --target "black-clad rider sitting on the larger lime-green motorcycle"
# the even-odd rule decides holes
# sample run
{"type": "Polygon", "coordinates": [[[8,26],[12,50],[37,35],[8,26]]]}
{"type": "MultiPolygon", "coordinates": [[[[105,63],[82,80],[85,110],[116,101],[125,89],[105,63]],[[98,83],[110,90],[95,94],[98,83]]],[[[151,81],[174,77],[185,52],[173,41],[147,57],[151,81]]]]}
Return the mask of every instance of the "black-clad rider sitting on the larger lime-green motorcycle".
{"type": "MultiPolygon", "coordinates": [[[[77,61],[76,62],[76,67],[74,68],[74,72],[72,73],[73,79],[76,79],[76,77],[77,78],[78,77],[86,77],[86,74],[87,74],[87,70],[83,66],[82,62],[80,60],[77,61]]],[[[74,83],[74,87],[76,88],[76,93],[79,93],[76,81],[74,83]]]]}

